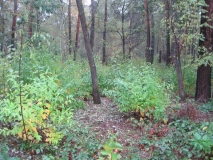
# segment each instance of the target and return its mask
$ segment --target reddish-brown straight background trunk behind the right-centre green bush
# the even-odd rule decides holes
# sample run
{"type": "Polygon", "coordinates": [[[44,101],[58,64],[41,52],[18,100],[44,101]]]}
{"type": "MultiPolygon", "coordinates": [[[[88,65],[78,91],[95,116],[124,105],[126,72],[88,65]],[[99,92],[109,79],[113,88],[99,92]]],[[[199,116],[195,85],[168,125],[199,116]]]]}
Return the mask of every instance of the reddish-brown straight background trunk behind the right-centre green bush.
{"type": "Polygon", "coordinates": [[[149,9],[148,1],[144,0],[145,16],[146,16],[146,62],[151,62],[150,58],[150,23],[149,23],[149,9]]]}

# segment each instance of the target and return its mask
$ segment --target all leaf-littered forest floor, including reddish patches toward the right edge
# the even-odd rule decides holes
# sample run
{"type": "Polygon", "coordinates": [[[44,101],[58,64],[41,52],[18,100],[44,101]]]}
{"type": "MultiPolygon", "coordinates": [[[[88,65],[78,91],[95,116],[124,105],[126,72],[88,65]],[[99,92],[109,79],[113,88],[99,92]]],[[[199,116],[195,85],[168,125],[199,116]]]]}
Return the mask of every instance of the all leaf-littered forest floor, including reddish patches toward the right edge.
{"type": "MultiPolygon", "coordinates": [[[[150,119],[143,119],[135,113],[121,113],[118,107],[109,98],[101,98],[101,104],[93,104],[91,99],[85,101],[85,107],[77,109],[74,113],[74,119],[78,124],[89,128],[89,133],[93,134],[100,142],[106,142],[112,135],[116,135],[116,142],[123,146],[121,151],[117,151],[122,159],[132,159],[132,155],[138,155],[140,159],[150,158],[153,149],[146,148],[138,143],[143,137],[153,138],[165,137],[169,133],[168,123],[175,119],[185,118],[194,122],[212,121],[213,112],[203,113],[197,106],[198,104],[179,103],[179,107],[168,107],[166,109],[168,122],[154,122],[150,119]],[[147,125],[148,124],[148,125],[147,125]]],[[[1,143],[10,144],[9,155],[21,159],[30,159],[29,152],[21,152],[14,149],[16,139],[0,137],[1,143]]],[[[100,156],[100,152],[95,153],[95,157],[100,156]]],[[[38,157],[41,157],[38,156],[38,157]]],[[[36,156],[34,156],[35,159],[36,156]]]]}

